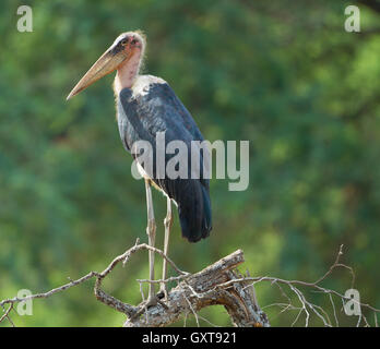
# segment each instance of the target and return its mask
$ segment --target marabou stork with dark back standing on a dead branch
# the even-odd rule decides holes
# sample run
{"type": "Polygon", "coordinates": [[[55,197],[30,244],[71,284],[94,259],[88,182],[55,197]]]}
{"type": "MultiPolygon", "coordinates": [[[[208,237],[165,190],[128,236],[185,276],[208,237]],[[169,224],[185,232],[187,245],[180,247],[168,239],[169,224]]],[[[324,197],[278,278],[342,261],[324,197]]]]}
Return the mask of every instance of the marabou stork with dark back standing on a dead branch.
{"type": "MultiPolygon", "coordinates": [[[[151,142],[155,156],[154,139],[157,132],[165,132],[165,142],[180,140],[188,145],[191,141],[203,141],[190,112],[186,109],[171,87],[161,77],[140,75],[139,71],[145,50],[145,37],[141,32],[128,32],[119,35],[114,44],[100,56],[94,65],[71,91],[68,98],[79,94],[100,77],[117,71],[114,92],[117,104],[119,133],[124,148],[139,159],[132,152],[135,141],[151,142]]],[[[174,156],[174,155],[173,155],[174,156]]],[[[204,154],[200,154],[203,159],[204,154]]],[[[190,158],[190,156],[188,157],[190,158]]],[[[165,155],[165,161],[170,155],[165,155]]],[[[151,185],[161,190],[167,197],[167,215],[164,219],[165,242],[164,253],[168,253],[168,241],[171,216],[171,200],[178,207],[182,236],[190,242],[197,242],[210,234],[212,228],[209,180],[201,173],[199,179],[164,179],[157,178],[156,169],[151,173],[142,166],[138,168],[145,181],[149,244],[155,244],[156,225],[154,219],[151,185]]],[[[166,168],[166,167],[165,167],[166,168]]],[[[149,252],[150,279],[154,279],[154,252],[149,252]]],[[[167,262],[164,258],[163,279],[166,279],[167,262]]],[[[166,284],[161,284],[161,292],[167,297],[166,284]]],[[[156,301],[154,284],[150,284],[147,304],[156,301]]]]}

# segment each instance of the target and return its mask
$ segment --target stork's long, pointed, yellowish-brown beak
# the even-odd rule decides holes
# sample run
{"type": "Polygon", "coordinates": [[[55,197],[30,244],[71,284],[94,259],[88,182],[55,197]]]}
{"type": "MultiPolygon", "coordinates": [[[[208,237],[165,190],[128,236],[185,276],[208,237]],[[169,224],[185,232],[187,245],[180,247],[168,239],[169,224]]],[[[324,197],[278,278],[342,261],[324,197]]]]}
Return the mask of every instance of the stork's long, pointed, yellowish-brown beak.
{"type": "Polygon", "coordinates": [[[128,51],[124,50],[123,47],[114,44],[100,56],[94,65],[90,68],[66,99],[70,99],[78,95],[81,91],[88,87],[100,77],[115,71],[128,56],[128,51]]]}

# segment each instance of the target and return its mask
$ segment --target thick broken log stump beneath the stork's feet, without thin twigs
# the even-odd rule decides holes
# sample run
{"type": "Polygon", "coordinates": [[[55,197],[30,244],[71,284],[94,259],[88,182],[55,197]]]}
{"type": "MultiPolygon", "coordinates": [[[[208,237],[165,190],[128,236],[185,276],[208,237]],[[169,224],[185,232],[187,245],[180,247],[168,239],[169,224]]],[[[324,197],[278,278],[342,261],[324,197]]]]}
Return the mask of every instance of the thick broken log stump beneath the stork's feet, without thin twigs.
{"type": "Polygon", "coordinates": [[[197,313],[201,309],[216,304],[225,306],[235,326],[269,326],[252,287],[242,281],[234,284],[241,275],[233,269],[242,262],[244,253],[238,250],[205,269],[189,275],[170,290],[166,306],[152,306],[140,316],[128,318],[124,326],[166,326],[188,314],[193,314],[198,322],[197,313]],[[231,284],[224,286],[226,282],[231,284]]]}

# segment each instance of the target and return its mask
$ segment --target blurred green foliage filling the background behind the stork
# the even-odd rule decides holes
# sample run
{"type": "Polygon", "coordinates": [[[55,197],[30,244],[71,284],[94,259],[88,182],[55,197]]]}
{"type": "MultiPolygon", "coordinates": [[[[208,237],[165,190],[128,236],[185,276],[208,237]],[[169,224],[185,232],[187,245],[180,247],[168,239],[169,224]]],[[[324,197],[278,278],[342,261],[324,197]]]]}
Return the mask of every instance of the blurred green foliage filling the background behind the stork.
{"type": "MultiPolygon", "coordinates": [[[[0,299],[102,270],[138,237],[146,241],[144,185],[131,177],[119,140],[112,76],[66,101],[118,34],[140,28],[147,35],[144,72],[171,85],[203,135],[250,141],[248,190],[229,192],[227,180],[212,180],[210,239],[189,244],[176,216],[170,257],[197,272],[241,248],[251,275],[313,281],[343,243],[361,300],[380,308],[379,14],[360,7],[363,33],[346,33],[347,4],[1,1],[0,299]],[[16,31],[21,4],[33,9],[33,33],[16,31]]],[[[154,193],[154,203],[161,248],[166,201],[154,193]]],[[[146,276],[147,255],[140,254],[115,270],[106,289],[138,303],[134,279],[146,276]]],[[[344,292],[349,280],[337,272],[324,286],[344,292]]],[[[122,324],[92,286],[37,300],[33,316],[13,321],[122,324]]],[[[286,301],[275,286],[257,291],[262,306],[286,301]]],[[[331,309],[326,297],[308,296],[331,309]]],[[[297,314],[265,311],[274,326],[290,325],[297,314]]],[[[229,325],[221,306],[202,315],[229,325]]],[[[316,316],[311,324],[322,323],[316,316]]]]}

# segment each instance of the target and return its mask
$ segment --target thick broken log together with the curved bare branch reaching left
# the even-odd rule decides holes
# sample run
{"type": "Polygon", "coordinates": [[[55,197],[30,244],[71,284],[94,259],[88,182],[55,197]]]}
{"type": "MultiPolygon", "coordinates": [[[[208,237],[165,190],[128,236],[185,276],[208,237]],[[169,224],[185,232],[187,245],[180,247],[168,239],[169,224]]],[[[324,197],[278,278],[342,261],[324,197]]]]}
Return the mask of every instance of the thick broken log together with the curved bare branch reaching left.
{"type": "MultiPolygon", "coordinates": [[[[167,256],[164,252],[152,248],[145,243],[135,245],[123,254],[114,258],[114,261],[102,272],[91,272],[85,276],[71,280],[60,287],[51,289],[47,292],[31,294],[24,298],[11,298],[0,302],[4,314],[0,317],[0,323],[5,318],[14,325],[10,313],[14,308],[14,304],[19,302],[25,302],[28,300],[49,298],[52,294],[62,292],[71,287],[83,284],[92,278],[95,278],[94,293],[95,297],[103,303],[111,306],[127,315],[128,321],[124,326],[165,326],[178,321],[181,316],[187,316],[189,313],[194,314],[198,320],[197,312],[202,308],[223,304],[231,321],[236,326],[269,326],[268,318],[263,312],[260,311],[254,292],[251,287],[246,287],[244,282],[239,281],[236,285],[228,285],[227,287],[219,287],[219,285],[227,281],[237,279],[241,275],[237,275],[231,270],[237,265],[244,262],[242,251],[238,250],[230,255],[222,258],[213,265],[206,267],[200,273],[191,275],[189,273],[180,270],[177,265],[167,256]],[[129,262],[130,257],[138,251],[151,250],[166,258],[171,267],[176,270],[178,276],[170,277],[168,281],[181,281],[175,289],[173,289],[165,303],[158,302],[157,305],[144,309],[144,302],[138,306],[124,303],[119,299],[106,293],[102,289],[103,280],[112,272],[112,269],[122,262],[124,265],[129,262]],[[5,310],[5,305],[9,308],[5,310]]],[[[162,280],[138,280],[143,282],[159,282],[162,280]]]]}

